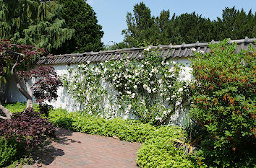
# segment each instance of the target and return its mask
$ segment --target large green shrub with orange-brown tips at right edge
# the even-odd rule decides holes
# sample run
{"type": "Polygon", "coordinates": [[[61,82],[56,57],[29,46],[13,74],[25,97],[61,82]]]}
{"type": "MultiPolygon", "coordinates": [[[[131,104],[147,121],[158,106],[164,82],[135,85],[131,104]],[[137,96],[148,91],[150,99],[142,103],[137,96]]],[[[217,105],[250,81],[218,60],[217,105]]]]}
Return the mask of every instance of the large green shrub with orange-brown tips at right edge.
{"type": "Polygon", "coordinates": [[[207,131],[200,156],[212,167],[255,166],[255,48],[236,52],[229,40],[192,59],[190,115],[207,131]]]}

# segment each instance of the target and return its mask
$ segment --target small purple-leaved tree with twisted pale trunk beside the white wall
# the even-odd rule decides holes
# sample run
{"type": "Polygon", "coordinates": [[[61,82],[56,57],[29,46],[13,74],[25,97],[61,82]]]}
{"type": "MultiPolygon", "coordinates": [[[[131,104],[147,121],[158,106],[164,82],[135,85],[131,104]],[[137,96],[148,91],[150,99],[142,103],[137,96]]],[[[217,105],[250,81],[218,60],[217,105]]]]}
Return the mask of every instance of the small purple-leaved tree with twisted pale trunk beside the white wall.
{"type": "MultiPolygon", "coordinates": [[[[45,50],[35,50],[33,45],[16,45],[9,40],[0,40],[0,76],[14,76],[17,89],[27,99],[26,110],[33,107],[33,97],[36,98],[36,102],[56,99],[57,88],[61,86],[59,76],[53,67],[34,68],[35,62],[42,54],[47,53],[45,50]],[[24,69],[26,71],[22,71],[24,69]],[[32,80],[32,84],[28,82],[35,78],[38,80],[32,80]]],[[[4,108],[0,102],[0,119],[11,118],[12,112],[4,108]]]]}

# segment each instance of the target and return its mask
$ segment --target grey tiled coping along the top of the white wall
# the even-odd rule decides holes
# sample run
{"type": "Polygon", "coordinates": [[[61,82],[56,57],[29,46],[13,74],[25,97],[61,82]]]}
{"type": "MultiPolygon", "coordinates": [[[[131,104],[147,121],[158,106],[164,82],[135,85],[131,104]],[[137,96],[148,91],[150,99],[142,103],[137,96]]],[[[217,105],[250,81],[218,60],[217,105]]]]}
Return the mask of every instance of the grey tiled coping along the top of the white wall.
{"type": "MultiPolygon", "coordinates": [[[[246,50],[250,44],[255,46],[256,38],[245,38],[239,40],[229,40],[229,43],[237,43],[238,47],[236,52],[241,50],[246,50]]],[[[218,43],[218,41],[212,40],[210,43],[218,43]]],[[[182,45],[158,45],[158,47],[153,46],[153,48],[162,48],[161,55],[166,58],[175,57],[188,57],[192,56],[192,48],[196,51],[204,51],[205,53],[210,52],[208,48],[208,43],[192,43],[182,45]]],[[[64,54],[54,57],[43,57],[38,61],[38,65],[51,65],[51,64],[65,64],[65,63],[85,63],[86,61],[98,62],[107,61],[110,59],[118,60],[128,56],[129,58],[144,58],[143,51],[145,48],[124,48],[118,50],[101,50],[99,52],[88,52],[88,53],[72,53],[64,54]],[[53,59],[54,58],[54,59],[53,59]]]]}

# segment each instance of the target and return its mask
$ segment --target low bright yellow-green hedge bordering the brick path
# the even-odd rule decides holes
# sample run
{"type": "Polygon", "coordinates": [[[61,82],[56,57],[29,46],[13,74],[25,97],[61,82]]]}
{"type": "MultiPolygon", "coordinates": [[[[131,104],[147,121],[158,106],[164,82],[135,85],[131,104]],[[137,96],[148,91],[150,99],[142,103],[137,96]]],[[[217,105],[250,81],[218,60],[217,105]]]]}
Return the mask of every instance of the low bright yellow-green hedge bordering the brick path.
{"type": "Polygon", "coordinates": [[[137,120],[109,120],[80,112],[67,112],[64,109],[52,110],[48,118],[57,127],[72,131],[118,136],[120,140],[143,143],[137,153],[137,164],[140,167],[200,167],[190,156],[176,149],[174,143],[171,143],[172,138],[182,137],[182,129],[178,126],[157,128],[137,120]]]}

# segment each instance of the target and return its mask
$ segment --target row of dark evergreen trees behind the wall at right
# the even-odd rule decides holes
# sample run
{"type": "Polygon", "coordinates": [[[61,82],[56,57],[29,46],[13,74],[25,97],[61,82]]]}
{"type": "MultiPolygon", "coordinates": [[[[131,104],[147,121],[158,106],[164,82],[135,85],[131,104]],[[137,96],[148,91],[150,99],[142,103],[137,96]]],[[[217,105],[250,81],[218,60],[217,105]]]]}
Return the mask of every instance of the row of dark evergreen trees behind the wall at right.
{"type": "Polygon", "coordinates": [[[255,37],[255,19],[256,14],[252,14],[252,10],[246,14],[244,9],[239,11],[234,7],[224,9],[222,18],[218,18],[217,21],[195,12],[171,16],[169,10],[163,10],[158,17],[153,17],[150,9],[141,2],[135,4],[133,14],[127,13],[127,29],[122,31],[124,41],[112,48],[255,37]]]}

